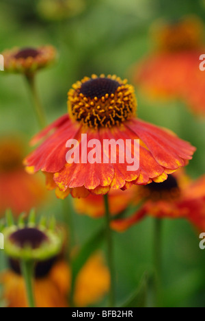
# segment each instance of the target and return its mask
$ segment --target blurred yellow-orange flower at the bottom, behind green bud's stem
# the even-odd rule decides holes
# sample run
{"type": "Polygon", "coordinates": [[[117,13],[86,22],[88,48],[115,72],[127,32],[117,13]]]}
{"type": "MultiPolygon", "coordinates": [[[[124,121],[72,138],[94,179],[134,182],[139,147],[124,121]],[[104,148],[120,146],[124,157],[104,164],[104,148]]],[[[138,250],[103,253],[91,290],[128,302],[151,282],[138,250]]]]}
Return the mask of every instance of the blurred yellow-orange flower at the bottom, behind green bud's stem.
{"type": "MultiPolygon", "coordinates": [[[[0,274],[3,298],[8,307],[27,307],[25,282],[20,275],[18,261],[10,260],[10,270],[0,274]]],[[[61,258],[53,258],[36,265],[34,293],[37,307],[68,307],[70,268],[61,258]]],[[[109,289],[109,272],[100,254],[95,254],[77,276],[74,303],[85,307],[98,302],[109,289]]]]}

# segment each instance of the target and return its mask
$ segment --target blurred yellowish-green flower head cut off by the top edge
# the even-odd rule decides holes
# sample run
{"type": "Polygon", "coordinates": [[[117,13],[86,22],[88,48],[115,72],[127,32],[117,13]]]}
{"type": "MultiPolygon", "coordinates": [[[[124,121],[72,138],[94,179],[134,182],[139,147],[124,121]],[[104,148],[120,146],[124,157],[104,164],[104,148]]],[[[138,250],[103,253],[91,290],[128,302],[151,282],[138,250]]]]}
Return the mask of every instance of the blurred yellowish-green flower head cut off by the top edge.
{"type": "Polygon", "coordinates": [[[43,19],[61,21],[83,12],[84,0],[40,0],[38,12],[43,19]]]}

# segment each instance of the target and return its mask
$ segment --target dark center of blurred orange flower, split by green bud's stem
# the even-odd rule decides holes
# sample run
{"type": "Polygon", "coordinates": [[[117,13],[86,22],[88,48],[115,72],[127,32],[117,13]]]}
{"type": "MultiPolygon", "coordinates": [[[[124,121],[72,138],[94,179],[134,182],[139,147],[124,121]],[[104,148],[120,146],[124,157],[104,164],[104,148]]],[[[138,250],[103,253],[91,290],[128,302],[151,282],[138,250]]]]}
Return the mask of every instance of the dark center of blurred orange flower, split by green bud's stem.
{"type": "MultiPolygon", "coordinates": [[[[44,278],[49,274],[53,265],[57,261],[57,257],[53,257],[46,261],[37,262],[35,266],[35,276],[36,278],[44,278]]],[[[19,261],[14,259],[9,259],[8,261],[10,269],[18,275],[21,275],[19,261]]]]}

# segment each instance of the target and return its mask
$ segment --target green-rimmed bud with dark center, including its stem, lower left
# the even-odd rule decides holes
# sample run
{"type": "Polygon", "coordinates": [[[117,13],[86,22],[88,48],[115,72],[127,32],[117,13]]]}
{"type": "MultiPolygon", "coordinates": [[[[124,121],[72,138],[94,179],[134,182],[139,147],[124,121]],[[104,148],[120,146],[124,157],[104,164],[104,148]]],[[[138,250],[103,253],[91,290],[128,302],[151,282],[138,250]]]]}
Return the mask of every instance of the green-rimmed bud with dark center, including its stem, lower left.
{"type": "Polygon", "coordinates": [[[46,222],[43,218],[40,223],[37,223],[33,210],[28,222],[25,222],[21,215],[18,224],[15,224],[10,211],[6,216],[7,225],[2,230],[5,254],[12,260],[18,260],[25,283],[27,305],[35,307],[33,291],[35,265],[39,261],[49,260],[60,253],[64,240],[63,233],[61,228],[56,226],[54,219],[46,222]]]}

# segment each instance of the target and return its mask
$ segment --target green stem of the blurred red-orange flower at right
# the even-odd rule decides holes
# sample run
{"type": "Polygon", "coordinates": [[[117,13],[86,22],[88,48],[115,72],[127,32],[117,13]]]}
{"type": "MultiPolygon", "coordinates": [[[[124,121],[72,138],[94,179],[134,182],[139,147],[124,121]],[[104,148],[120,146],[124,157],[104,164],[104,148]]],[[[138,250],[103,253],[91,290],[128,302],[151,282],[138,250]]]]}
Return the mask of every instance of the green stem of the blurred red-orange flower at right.
{"type": "Polygon", "coordinates": [[[162,305],[162,246],[161,246],[161,232],[162,232],[162,220],[154,219],[154,272],[155,272],[155,305],[161,307],[162,305]]]}

